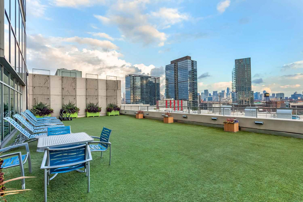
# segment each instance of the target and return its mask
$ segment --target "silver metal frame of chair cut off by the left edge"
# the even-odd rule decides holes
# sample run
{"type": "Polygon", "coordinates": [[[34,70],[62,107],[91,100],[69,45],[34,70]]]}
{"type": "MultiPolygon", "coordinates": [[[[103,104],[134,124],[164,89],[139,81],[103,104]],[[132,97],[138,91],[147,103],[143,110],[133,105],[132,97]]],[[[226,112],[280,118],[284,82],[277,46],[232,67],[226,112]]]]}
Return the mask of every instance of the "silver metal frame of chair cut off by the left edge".
{"type": "MultiPolygon", "coordinates": [[[[18,144],[18,145],[5,147],[3,149],[0,149],[0,153],[1,152],[6,152],[8,150],[11,150],[11,149],[14,149],[14,148],[17,148],[17,147],[22,147],[22,146],[25,146],[25,149],[26,149],[26,157],[25,157],[24,161],[22,161],[21,152],[14,152],[14,153],[11,153],[11,154],[4,154],[4,155],[1,155],[0,158],[3,159],[4,157],[18,156],[19,164],[10,165],[10,166],[4,167],[3,169],[10,168],[10,167],[15,167],[15,166],[20,166],[21,176],[24,177],[25,175],[24,175],[24,166],[23,165],[26,163],[27,160],[28,160],[29,174],[32,173],[31,153],[29,152],[28,144],[27,143],[22,143],[22,144],[18,144]],[[22,162],[22,163],[20,163],[20,162],[22,162]]],[[[25,179],[24,178],[21,179],[21,187],[22,187],[22,189],[25,189],[25,179]]]]}

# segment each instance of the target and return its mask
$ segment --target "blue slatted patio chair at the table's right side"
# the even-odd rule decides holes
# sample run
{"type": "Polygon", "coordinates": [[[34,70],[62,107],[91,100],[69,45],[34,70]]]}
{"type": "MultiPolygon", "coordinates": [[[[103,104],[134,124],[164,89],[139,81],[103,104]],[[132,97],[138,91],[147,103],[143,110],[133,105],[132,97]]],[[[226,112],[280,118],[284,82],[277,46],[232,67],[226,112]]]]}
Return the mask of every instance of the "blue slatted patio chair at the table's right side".
{"type": "Polygon", "coordinates": [[[112,143],[109,142],[109,136],[111,135],[111,133],[112,133],[111,129],[103,127],[100,137],[91,136],[92,138],[99,139],[100,141],[93,141],[88,143],[91,152],[101,151],[101,158],[102,158],[102,152],[106,151],[109,147],[109,165],[111,164],[111,160],[112,160],[112,146],[111,146],[112,143]]]}

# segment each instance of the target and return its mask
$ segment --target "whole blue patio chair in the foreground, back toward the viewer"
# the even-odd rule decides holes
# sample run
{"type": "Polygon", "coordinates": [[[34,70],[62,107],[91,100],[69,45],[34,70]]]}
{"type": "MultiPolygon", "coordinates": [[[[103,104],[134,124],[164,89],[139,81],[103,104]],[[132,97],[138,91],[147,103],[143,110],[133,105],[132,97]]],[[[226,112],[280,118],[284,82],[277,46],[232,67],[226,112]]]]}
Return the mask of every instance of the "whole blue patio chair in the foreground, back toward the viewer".
{"type": "Polygon", "coordinates": [[[92,154],[87,143],[68,148],[48,147],[44,152],[41,164],[41,169],[44,169],[44,201],[47,202],[47,185],[58,173],[67,173],[83,167],[85,167],[86,176],[88,177],[87,192],[89,192],[89,161],[91,160],[92,154]],[[55,175],[49,178],[51,174],[55,175]]]}

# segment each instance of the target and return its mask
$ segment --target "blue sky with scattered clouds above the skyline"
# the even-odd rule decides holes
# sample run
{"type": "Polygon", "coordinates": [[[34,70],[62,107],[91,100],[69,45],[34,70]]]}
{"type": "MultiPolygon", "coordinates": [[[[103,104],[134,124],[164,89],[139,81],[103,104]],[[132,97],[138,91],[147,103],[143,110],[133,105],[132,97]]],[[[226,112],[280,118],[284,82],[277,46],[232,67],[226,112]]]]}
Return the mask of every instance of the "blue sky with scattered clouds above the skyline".
{"type": "Polygon", "coordinates": [[[27,65],[161,77],[170,61],[197,61],[198,92],[231,86],[251,57],[252,88],[303,91],[303,3],[289,1],[27,0],[27,65]]]}

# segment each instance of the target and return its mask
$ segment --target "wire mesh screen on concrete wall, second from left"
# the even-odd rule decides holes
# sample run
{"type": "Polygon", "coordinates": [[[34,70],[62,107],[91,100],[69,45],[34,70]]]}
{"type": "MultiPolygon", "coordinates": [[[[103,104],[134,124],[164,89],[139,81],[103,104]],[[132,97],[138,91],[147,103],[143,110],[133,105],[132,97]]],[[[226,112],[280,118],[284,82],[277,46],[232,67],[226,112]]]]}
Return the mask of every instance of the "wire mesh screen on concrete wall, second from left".
{"type": "Polygon", "coordinates": [[[76,101],[76,73],[62,71],[62,105],[69,102],[77,106],[76,101]]]}

